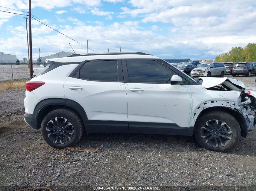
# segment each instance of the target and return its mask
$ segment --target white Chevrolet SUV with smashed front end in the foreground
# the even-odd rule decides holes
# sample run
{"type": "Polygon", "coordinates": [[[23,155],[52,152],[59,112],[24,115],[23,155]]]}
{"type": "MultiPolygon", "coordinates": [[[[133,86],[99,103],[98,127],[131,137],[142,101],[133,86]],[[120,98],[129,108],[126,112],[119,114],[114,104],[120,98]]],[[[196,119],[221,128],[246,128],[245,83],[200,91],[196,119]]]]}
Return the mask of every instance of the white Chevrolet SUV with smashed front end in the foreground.
{"type": "Polygon", "coordinates": [[[46,62],[26,83],[24,118],[54,148],[75,145],[85,131],[194,135],[204,148],[228,151],[254,127],[241,86],[227,80],[236,91],[205,88],[156,56],[73,54],[46,62]]]}

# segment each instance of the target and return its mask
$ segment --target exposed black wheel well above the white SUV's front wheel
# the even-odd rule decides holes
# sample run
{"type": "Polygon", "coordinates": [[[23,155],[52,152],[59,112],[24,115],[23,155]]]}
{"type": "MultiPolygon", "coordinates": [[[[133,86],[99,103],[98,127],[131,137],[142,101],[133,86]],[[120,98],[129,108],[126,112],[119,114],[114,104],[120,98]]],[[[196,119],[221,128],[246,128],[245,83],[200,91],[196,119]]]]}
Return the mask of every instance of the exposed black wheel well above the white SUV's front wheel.
{"type": "Polygon", "coordinates": [[[210,112],[215,113],[218,111],[225,111],[225,112],[231,114],[232,116],[234,116],[234,118],[238,121],[238,123],[240,125],[241,136],[242,137],[247,136],[247,126],[246,126],[244,116],[241,113],[239,113],[238,111],[233,110],[229,107],[208,107],[208,108],[202,110],[201,113],[199,114],[198,118],[196,119],[195,126],[196,126],[196,123],[198,122],[198,119],[201,116],[203,116],[205,113],[210,113],[210,112]]]}

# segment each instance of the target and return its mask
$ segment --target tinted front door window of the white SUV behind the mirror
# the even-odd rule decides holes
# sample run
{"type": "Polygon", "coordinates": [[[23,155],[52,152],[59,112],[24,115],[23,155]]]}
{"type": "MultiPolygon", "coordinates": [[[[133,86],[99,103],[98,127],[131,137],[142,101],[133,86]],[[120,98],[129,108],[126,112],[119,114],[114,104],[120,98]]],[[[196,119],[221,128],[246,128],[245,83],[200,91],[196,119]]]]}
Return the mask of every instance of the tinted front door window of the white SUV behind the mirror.
{"type": "Polygon", "coordinates": [[[174,75],[155,60],[126,60],[126,66],[130,82],[170,83],[174,75]]]}

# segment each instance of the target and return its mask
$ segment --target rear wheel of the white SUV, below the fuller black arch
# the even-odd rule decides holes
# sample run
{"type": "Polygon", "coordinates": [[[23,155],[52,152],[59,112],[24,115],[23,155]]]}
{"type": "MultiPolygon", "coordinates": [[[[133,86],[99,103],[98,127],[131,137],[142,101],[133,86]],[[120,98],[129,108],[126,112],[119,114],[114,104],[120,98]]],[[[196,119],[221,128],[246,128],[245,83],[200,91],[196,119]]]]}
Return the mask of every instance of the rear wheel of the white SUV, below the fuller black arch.
{"type": "Polygon", "coordinates": [[[44,117],[41,123],[41,133],[45,142],[53,148],[71,147],[81,138],[83,123],[73,111],[57,109],[44,117]],[[55,136],[57,133],[58,137],[55,136]]]}

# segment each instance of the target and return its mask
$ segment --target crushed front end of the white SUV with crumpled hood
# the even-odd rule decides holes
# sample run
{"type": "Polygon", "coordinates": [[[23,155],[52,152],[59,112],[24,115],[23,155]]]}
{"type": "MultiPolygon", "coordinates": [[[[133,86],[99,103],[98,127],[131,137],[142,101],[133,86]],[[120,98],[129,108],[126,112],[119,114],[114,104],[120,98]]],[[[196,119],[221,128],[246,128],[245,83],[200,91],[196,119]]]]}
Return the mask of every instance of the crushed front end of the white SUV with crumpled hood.
{"type": "Polygon", "coordinates": [[[244,83],[232,78],[194,77],[194,80],[207,90],[240,92],[237,102],[227,103],[230,109],[239,112],[243,116],[242,123],[240,122],[240,125],[244,126],[244,128],[241,128],[241,134],[243,137],[246,137],[247,132],[251,131],[256,123],[254,118],[256,98],[252,96],[249,91],[245,90],[244,83]],[[245,131],[245,129],[247,129],[247,131],[245,131]]]}

